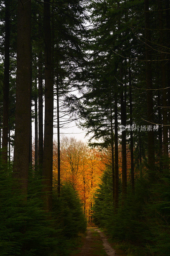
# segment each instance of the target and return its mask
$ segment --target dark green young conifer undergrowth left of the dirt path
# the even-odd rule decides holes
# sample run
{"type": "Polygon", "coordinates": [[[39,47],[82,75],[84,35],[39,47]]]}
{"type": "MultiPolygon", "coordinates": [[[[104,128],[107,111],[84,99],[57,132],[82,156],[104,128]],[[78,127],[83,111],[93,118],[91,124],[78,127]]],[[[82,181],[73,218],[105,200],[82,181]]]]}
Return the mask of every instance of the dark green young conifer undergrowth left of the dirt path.
{"type": "Polygon", "coordinates": [[[80,244],[86,222],[80,199],[69,185],[53,190],[52,213],[43,210],[41,179],[30,175],[27,200],[12,171],[0,168],[0,255],[67,256],[80,244]]]}

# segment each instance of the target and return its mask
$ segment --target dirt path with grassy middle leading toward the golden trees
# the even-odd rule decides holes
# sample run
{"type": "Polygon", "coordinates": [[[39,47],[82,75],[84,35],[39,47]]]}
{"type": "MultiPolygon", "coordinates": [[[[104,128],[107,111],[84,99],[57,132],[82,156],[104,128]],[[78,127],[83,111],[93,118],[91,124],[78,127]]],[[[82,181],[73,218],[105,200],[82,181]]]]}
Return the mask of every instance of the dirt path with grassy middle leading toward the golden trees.
{"type": "Polygon", "coordinates": [[[82,247],[72,256],[126,256],[124,252],[113,249],[107,237],[98,228],[88,228],[82,243],[82,247]]]}

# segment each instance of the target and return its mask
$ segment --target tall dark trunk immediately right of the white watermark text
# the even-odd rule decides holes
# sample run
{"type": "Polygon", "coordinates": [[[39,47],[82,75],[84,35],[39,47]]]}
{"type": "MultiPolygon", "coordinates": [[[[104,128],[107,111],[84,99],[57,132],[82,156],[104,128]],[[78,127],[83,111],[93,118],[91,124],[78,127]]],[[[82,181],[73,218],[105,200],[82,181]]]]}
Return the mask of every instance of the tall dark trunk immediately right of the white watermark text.
{"type": "Polygon", "coordinates": [[[161,76],[162,76],[162,120],[163,120],[163,157],[165,161],[164,168],[168,168],[168,119],[167,119],[167,89],[166,88],[166,59],[163,47],[163,41],[165,39],[165,34],[163,31],[163,11],[162,11],[162,1],[158,0],[158,23],[159,23],[159,45],[160,45],[160,66],[161,66],[161,76]]]}

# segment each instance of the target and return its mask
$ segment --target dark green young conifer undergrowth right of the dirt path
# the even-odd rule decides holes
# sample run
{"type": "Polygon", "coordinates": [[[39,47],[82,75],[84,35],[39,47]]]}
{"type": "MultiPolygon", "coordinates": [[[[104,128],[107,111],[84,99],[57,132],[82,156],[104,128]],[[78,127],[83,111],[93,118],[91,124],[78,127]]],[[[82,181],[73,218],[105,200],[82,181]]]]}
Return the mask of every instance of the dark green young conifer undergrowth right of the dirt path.
{"type": "Polygon", "coordinates": [[[119,195],[117,212],[112,203],[112,176],[108,172],[95,195],[95,224],[128,256],[169,256],[169,172],[158,173],[154,183],[147,175],[136,180],[135,195],[129,184],[123,202],[119,195]]]}

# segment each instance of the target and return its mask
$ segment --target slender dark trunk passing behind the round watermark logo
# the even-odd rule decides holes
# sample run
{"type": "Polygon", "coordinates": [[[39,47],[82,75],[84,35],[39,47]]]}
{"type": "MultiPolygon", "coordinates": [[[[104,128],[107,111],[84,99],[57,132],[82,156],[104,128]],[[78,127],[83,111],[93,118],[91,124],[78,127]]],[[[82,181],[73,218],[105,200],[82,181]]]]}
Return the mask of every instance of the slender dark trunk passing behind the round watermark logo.
{"type": "MultiPolygon", "coordinates": [[[[121,111],[121,125],[126,127],[126,107],[123,96],[123,75],[122,63],[120,64],[120,111],[121,111]]],[[[127,193],[127,162],[126,162],[126,129],[122,130],[122,196],[125,197],[127,193]]]]}

